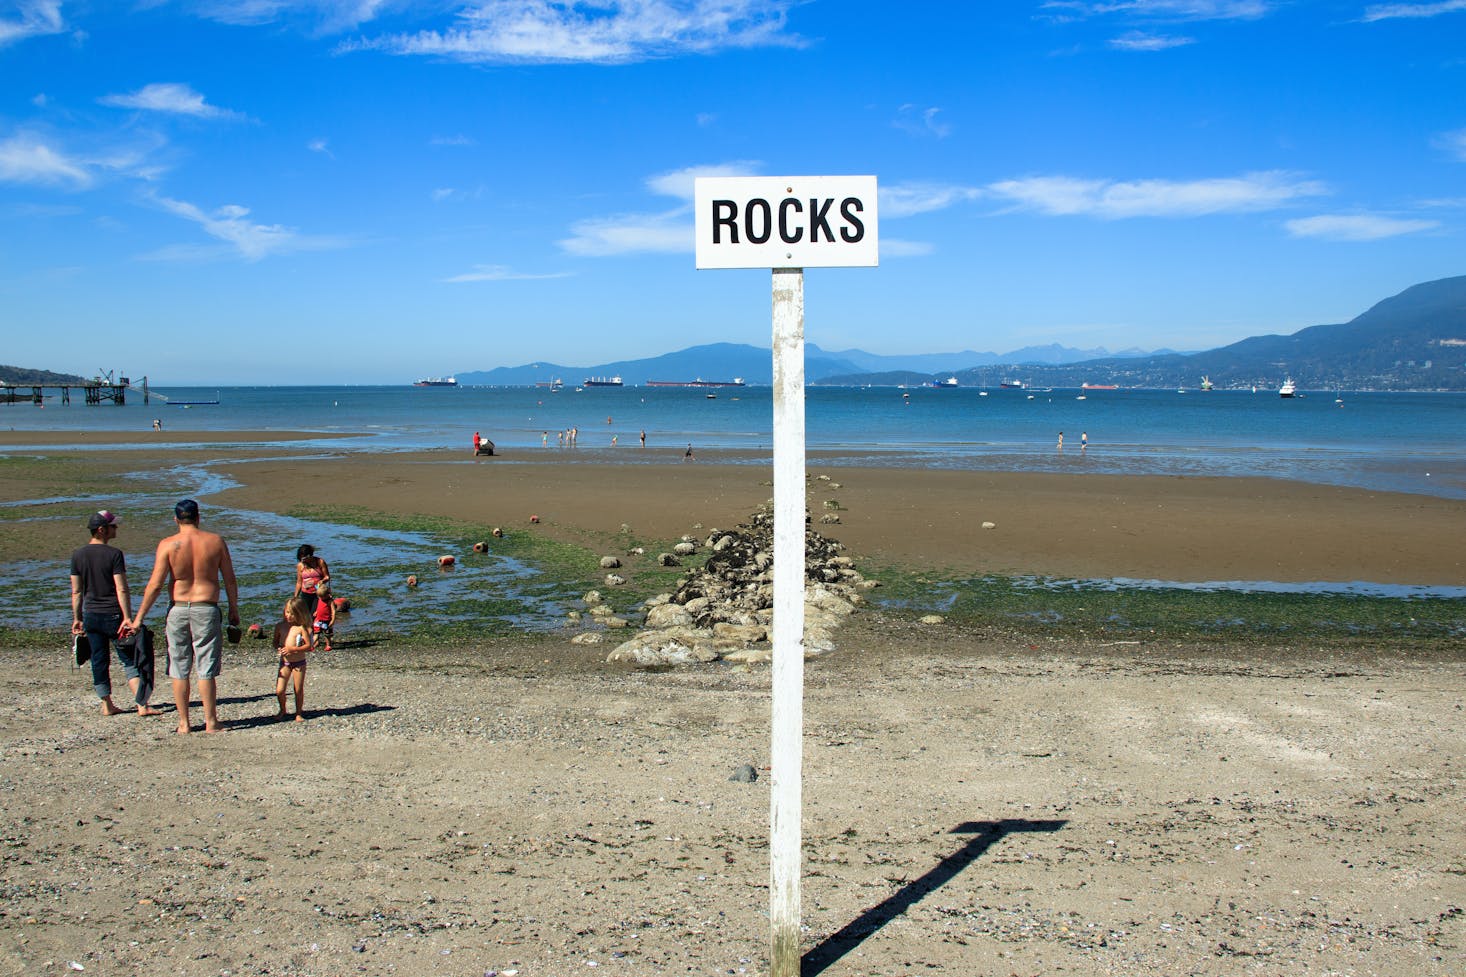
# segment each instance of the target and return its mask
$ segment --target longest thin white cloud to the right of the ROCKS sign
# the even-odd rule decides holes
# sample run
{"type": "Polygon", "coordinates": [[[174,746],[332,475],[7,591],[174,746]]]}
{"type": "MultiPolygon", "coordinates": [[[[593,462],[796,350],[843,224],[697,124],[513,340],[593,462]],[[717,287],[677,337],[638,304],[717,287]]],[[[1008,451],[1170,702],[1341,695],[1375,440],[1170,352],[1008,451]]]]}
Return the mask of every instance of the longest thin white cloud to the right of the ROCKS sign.
{"type": "Polygon", "coordinates": [[[1207,180],[1094,180],[1034,176],[990,183],[991,195],[1016,210],[1041,214],[1124,217],[1202,217],[1207,214],[1274,210],[1305,197],[1327,194],[1318,180],[1292,173],[1248,173],[1207,180]]]}

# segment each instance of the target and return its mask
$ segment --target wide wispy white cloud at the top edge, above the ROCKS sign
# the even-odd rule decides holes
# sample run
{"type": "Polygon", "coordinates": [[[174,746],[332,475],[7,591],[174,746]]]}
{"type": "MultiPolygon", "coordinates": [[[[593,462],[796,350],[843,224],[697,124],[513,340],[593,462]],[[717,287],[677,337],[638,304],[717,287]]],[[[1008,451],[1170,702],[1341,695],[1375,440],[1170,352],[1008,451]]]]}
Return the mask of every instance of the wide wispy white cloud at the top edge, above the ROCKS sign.
{"type": "Polygon", "coordinates": [[[478,0],[459,25],[362,38],[343,50],[381,50],[457,62],[623,65],[740,47],[798,47],[795,0],[478,0]]]}

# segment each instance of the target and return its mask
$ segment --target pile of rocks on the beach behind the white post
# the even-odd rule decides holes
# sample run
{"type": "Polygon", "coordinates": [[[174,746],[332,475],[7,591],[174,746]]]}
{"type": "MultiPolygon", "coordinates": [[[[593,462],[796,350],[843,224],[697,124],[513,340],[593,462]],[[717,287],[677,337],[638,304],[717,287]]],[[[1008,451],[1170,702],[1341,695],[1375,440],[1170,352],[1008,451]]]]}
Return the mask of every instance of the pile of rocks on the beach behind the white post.
{"type": "MultiPolygon", "coordinates": [[[[774,618],[774,516],[767,508],[748,525],[712,530],[705,540],[683,537],[664,553],[663,565],[707,547],[701,569],[688,571],[671,594],[647,601],[645,628],[608,656],[608,662],[680,665],[688,662],[768,662],[774,618]]],[[[863,603],[862,591],[878,584],[841,556],[844,546],[827,540],[805,521],[805,657],[834,650],[834,629],[863,603]]],[[[676,565],[676,563],[670,563],[676,565]]]]}

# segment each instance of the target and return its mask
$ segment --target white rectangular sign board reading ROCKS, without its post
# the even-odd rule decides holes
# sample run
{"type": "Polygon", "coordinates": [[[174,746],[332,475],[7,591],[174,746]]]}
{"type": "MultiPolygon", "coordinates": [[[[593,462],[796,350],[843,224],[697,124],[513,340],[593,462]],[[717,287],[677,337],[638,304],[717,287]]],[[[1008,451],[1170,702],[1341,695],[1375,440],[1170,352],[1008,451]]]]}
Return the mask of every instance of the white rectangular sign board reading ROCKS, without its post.
{"type": "Polygon", "coordinates": [[[874,268],[874,176],[693,180],[699,268],[874,268]]]}

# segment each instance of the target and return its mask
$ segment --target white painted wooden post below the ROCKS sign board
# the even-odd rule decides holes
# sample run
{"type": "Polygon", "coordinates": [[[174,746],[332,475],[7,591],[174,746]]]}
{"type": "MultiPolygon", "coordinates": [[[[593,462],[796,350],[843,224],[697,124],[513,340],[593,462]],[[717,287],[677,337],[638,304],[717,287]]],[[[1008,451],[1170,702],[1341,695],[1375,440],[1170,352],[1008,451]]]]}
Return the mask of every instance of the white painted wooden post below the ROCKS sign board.
{"type": "Polygon", "coordinates": [[[805,270],[774,268],[774,704],[770,977],[799,977],[805,725],[805,270]]]}

